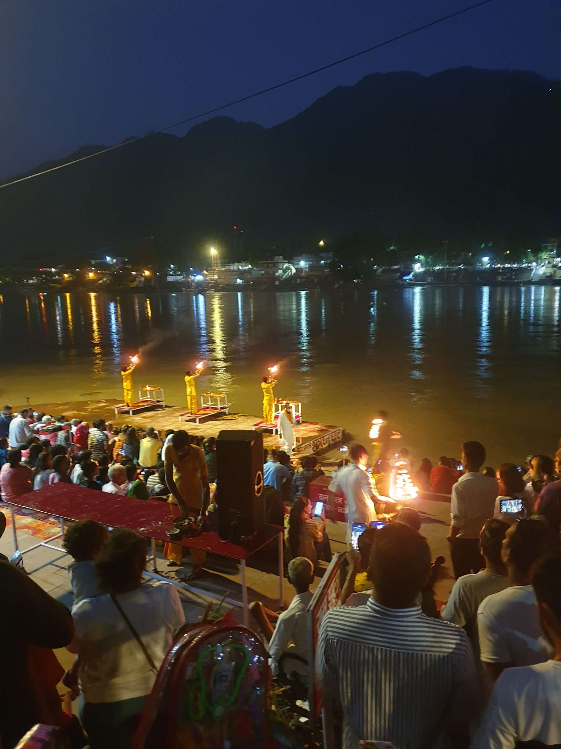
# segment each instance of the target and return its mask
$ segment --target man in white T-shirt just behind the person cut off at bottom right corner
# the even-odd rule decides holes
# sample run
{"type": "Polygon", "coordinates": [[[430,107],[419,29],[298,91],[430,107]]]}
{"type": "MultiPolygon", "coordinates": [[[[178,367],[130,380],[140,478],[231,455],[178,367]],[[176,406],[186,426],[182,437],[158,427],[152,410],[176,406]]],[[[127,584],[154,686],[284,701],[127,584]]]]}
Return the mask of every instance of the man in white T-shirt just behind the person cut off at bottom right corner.
{"type": "Polygon", "coordinates": [[[488,595],[477,610],[481,660],[493,682],[506,668],[531,666],[551,657],[538,619],[530,569],[552,548],[544,521],[519,520],[506,531],[501,556],[509,586],[488,595]]]}

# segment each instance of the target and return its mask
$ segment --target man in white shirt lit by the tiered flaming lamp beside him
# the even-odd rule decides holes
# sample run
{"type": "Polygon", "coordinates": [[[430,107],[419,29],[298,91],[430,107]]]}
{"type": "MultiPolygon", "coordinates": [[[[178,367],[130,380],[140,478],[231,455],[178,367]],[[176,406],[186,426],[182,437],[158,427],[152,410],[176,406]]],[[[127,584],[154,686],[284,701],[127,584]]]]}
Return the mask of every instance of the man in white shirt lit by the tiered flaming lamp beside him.
{"type": "Polygon", "coordinates": [[[353,523],[370,524],[377,519],[373,497],[374,491],[370,476],[367,473],[368,453],[363,445],[353,445],[349,450],[349,465],[340,468],[335,473],[329,491],[340,492],[345,497],[347,505],[347,543],[351,540],[353,523]]]}

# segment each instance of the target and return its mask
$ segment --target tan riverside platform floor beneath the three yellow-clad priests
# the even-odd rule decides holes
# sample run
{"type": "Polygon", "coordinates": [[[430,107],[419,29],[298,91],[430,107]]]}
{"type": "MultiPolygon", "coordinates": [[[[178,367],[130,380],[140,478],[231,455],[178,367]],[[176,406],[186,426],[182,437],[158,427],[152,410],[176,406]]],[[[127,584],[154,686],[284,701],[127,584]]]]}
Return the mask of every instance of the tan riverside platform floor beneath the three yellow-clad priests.
{"type": "MultiPolygon", "coordinates": [[[[254,425],[260,422],[259,416],[249,416],[247,413],[229,413],[218,416],[216,419],[200,424],[194,422],[181,422],[180,415],[186,413],[185,406],[169,407],[159,410],[144,411],[130,416],[128,413],[120,413],[115,417],[115,407],[122,401],[107,399],[101,401],[59,401],[55,403],[34,404],[37,411],[45,411],[53,416],[64,413],[70,419],[83,419],[91,423],[95,419],[105,419],[117,425],[131,424],[133,426],[153,426],[162,431],[166,429],[185,429],[189,434],[197,434],[202,437],[218,437],[222,429],[247,429],[251,431],[254,425]]],[[[22,406],[23,407],[23,406],[22,406]]],[[[302,422],[294,427],[296,438],[296,450],[299,454],[311,454],[313,452],[323,454],[333,449],[343,440],[343,427],[317,422],[302,422]]],[[[267,449],[278,447],[281,440],[276,434],[263,432],[263,444],[267,449]]]]}

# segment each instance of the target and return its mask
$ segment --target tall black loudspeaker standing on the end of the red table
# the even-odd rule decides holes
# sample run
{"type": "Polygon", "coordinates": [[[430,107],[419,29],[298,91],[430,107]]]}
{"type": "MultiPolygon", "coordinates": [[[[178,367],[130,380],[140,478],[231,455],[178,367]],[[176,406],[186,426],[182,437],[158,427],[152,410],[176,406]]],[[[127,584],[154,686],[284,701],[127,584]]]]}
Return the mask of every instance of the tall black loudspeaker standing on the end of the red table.
{"type": "Polygon", "coordinates": [[[239,542],[265,524],[263,434],[223,429],[216,440],[218,535],[239,542]]]}

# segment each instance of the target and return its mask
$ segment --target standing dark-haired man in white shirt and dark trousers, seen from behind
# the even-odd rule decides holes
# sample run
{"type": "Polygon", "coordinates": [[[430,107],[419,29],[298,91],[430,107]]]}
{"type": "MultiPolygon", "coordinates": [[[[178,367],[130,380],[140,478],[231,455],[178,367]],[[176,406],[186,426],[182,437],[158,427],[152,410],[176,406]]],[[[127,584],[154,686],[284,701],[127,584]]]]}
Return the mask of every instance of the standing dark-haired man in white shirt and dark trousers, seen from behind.
{"type": "Polygon", "coordinates": [[[498,494],[497,480],[480,472],[485,463],[485,448],[480,442],[462,445],[462,464],[466,470],[452,487],[450,503],[450,557],[454,576],[479,572],[485,560],[479,551],[479,533],[493,517],[494,500],[498,494]]]}

